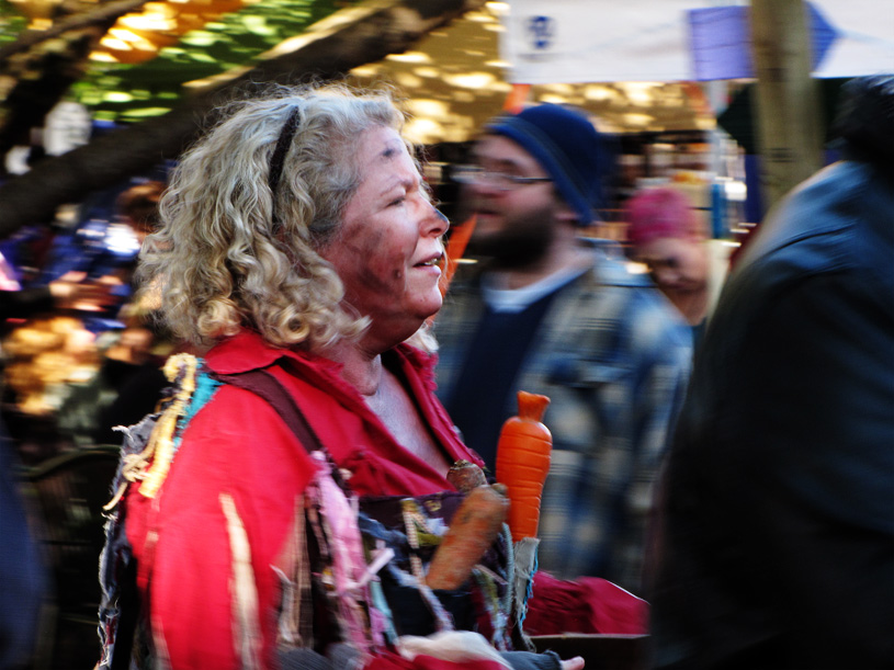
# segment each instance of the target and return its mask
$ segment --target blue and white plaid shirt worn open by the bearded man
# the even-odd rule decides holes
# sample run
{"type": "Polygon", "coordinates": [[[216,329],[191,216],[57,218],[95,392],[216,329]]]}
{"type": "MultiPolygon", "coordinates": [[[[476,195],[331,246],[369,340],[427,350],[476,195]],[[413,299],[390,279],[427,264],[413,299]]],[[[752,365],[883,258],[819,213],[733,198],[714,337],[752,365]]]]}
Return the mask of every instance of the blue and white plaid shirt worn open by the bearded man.
{"type": "MultiPolygon", "coordinates": [[[[442,398],[450,397],[483,309],[475,284],[454,280],[434,330],[442,398]]],[[[591,272],[553,298],[509,398],[523,389],[552,400],[544,418],[553,455],[541,509],[541,568],[640,589],[653,482],[691,349],[689,326],[620,258],[600,252],[591,272]]],[[[516,411],[507,407],[506,416],[516,411]]]]}

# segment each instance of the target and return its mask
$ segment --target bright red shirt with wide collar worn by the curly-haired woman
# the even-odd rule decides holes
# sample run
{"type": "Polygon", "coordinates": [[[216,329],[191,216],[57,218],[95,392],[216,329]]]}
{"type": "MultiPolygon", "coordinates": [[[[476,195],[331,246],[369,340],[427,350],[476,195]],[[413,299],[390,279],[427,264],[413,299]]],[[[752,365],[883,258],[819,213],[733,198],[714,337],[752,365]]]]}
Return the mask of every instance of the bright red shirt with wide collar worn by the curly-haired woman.
{"type": "MultiPolygon", "coordinates": [[[[448,461],[480,464],[459,440],[434,397],[433,356],[400,345],[383,361],[400,377],[448,461]]],[[[395,442],[340,365],[306,353],[272,349],[252,332],[215,347],[214,372],[233,374],[272,365],[312,428],[359,495],[420,495],[452,487],[441,473],[395,442]],[[292,372],[275,365],[288,357],[292,372]]],[[[219,387],[182,435],[165,486],[155,499],[131,487],[127,538],[149,603],[159,655],[173,670],[241,667],[234,641],[233,554],[222,495],[231,497],[249,541],[258,592],[263,667],[274,667],[279,583],[271,569],[292,527],[295,498],[314,465],[267,401],[248,390],[219,387]]],[[[484,667],[484,666],[482,666],[484,667]]]]}

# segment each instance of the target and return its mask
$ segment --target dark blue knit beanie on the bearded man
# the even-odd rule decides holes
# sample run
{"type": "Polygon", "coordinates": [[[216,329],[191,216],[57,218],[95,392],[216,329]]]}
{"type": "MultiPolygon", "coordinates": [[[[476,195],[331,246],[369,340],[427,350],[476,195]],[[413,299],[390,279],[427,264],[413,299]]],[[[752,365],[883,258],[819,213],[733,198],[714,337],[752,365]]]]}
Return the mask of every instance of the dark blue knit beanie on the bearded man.
{"type": "Polygon", "coordinates": [[[485,132],[503,135],[531,154],[553,179],[578,224],[593,220],[595,208],[608,205],[606,184],[614,157],[603,135],[580,112],[544,103],[514,115],[500,115],[485,132]]]}

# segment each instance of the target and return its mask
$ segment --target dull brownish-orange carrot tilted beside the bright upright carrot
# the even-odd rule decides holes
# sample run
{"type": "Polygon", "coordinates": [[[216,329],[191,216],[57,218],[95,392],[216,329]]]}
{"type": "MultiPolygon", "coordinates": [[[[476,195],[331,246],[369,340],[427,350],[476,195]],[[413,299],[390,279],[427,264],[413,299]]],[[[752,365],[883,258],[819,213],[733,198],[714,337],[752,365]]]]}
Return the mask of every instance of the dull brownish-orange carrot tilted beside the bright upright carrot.
{"type": "Polygon", "coordinates": [[[506,521],[505,487],[478,486],[465,497],[434,552],[426,583],[432,589],[459,589],[494,544],[506,521]]]}

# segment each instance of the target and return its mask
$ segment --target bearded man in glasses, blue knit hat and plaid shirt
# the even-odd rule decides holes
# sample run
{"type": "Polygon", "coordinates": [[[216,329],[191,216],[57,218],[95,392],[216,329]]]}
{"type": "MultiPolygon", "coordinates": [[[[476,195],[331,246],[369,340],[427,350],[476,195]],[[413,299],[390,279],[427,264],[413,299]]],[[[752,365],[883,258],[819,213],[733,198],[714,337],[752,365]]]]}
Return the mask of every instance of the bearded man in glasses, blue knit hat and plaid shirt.
{"type": "Polygon", "coordinates": [[[541,104],[486,124],[455,171],[480,262],[454,279],[434,332],[442,398],[491,470],[517,391],[552,399],[540,566],[635,592],[691,336],[619,250],[581,237],[612,169],[608,138],[577,111],[541,104]]]}

